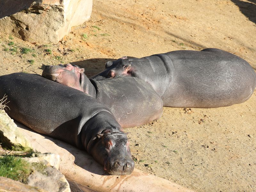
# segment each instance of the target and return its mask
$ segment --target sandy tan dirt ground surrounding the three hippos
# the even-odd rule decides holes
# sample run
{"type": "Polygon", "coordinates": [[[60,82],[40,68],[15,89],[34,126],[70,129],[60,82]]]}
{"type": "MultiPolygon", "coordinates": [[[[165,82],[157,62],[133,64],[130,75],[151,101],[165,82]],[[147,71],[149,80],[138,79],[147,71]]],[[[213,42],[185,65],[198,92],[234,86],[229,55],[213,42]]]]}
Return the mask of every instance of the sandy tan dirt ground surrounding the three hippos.
{"type": "MultiPolygon", "coordinates": [[[[255,0],[93,3],[91,19],[58,44],[0,33],[0,75],[41,74],[43,65],[71,62],[92,76],[122,56],[208,47],[234,53],[256,69],[255,0]],[[22,48],[31,52],[22,54],[22,48]]],[[[255,118],[256,91],[230,107],[164,108],[159,120],[125,131],[140,170],[196,191],[248,192],[256,191],[255,118]]]]}

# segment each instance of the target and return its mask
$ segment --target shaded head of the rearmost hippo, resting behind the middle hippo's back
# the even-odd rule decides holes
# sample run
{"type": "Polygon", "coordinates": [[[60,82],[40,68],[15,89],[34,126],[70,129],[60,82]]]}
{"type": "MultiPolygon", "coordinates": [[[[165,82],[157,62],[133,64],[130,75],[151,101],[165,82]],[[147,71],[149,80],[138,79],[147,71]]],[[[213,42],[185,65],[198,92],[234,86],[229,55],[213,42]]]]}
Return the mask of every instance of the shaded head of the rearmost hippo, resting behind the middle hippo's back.
{"type": "Polygon", "coordinates": [[[114,78],[123,76],[134,76],[132,74],[132,58],[122,57],[114,61],[108,61],[105,63],[105,70],[101,73],[92,76],[92,79],[114,78]]]}

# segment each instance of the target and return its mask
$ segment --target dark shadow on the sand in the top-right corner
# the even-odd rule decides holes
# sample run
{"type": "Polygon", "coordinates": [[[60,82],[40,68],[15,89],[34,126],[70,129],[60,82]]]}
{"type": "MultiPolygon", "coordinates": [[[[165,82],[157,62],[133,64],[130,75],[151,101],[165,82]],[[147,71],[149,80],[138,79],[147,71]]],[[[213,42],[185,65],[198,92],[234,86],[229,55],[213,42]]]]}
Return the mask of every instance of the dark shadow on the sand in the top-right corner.
{"type": "Polygon", "coordinates": [[[241,0],[231,0],[236,4],[240,11],[252,22],[256,23],[256,0],[248,0],[250,2],[244,2],[241,0]]]}

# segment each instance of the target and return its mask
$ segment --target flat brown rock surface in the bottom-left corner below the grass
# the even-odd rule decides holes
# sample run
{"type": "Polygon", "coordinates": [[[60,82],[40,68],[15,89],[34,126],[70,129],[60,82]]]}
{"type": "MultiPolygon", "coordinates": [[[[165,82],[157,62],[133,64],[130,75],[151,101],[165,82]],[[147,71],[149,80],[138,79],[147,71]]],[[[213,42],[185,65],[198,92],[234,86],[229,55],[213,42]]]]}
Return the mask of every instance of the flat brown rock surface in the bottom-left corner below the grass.
{"type": "Polygon", "coordinates": [[[37,187],[31,187],[20,183],[19,181],[14,181],[5,177],[0,177],[0,191],[1,192],[46,192],[44,189],[39,189],[37,187]]]}

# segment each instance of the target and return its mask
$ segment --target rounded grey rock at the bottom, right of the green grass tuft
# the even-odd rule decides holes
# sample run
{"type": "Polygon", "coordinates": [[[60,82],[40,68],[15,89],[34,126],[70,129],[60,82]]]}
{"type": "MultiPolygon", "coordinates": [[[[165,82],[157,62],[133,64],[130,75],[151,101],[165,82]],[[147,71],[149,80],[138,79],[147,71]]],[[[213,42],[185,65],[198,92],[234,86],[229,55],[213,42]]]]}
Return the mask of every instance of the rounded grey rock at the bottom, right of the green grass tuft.
{"type": "Polygon", "coordinates": [[[45,166],[45,169],[34,171],[28,176],[28,185],[42,188],[51,192],[70,192],[69,183],[65,176],[54,167],[45,166]]]}

